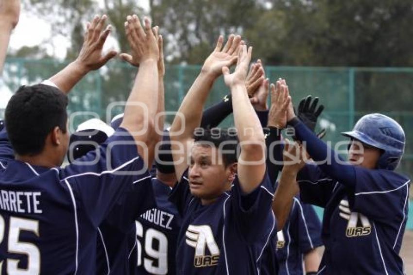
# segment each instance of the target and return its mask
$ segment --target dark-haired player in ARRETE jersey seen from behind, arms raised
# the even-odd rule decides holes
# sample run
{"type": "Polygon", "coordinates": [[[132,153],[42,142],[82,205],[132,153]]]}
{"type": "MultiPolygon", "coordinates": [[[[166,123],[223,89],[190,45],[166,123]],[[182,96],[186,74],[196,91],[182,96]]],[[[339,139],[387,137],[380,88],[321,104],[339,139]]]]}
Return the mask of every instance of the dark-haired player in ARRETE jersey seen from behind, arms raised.
{"type": "Polygon", "coordinates": [[[139,68],[131,99],[145,103],[151,115],[144,118],[140,108],[127,105],[121,127],[98,151],[81,158],[97,161],[59,168],[69,142],[64,93],[115,55],[101,55],[110,33],[110,28],[103,31],[104,20],[105,16],[93,19],[78,59],[52,77],[60,89],[23,86],[7,105],[6,130],[16,159],[0,156],[1,274],[94,274],[98,225],[131,182],[149,175],[146,167],[152,160],[137,143],[154,137],[130,134],[155,116],[153,94],[158,85],[148,75],[156,76],[152,60],[158,47],[149,20],[149,38],[141,43],[144,51],[139,55],[147,62],[139,68]]]}

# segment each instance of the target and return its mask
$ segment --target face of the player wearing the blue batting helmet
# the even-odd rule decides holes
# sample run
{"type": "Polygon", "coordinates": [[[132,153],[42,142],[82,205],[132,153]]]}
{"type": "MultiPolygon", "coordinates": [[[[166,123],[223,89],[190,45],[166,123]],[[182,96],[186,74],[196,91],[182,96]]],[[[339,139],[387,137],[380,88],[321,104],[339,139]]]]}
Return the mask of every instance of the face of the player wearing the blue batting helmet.
{"type": "Polygon", "coordinates": [[[358,165],[368,169],[375,169],[379,161],[381,152],[379,149],[352,140],[348,151],[348,160],[353,165],[358,165]]]}

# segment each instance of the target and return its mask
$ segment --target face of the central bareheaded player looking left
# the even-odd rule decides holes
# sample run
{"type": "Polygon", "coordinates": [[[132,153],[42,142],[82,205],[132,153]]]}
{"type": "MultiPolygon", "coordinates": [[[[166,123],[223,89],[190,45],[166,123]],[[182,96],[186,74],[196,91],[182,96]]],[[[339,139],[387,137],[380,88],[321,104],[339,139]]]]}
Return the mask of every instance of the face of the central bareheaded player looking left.
{"type": "Polygon", "coordinates": [[[225,168],[219,149],[195,143],[188,171],[191,194],[203,203],[213,202],[230,187],[231,167],[225,168]]]}

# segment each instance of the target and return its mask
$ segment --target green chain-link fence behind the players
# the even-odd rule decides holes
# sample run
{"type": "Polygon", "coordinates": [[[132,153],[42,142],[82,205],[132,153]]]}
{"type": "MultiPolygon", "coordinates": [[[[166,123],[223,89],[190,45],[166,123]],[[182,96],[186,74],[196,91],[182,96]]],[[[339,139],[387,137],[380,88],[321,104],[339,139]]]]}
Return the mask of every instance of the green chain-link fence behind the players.
{"type": "MultiPolygon", "coordinates": [[[[49,78],[66,64],[54,60],[13,59],[6,61],[3,82],[14,92],[23,84],[49,78]]],[[[166,110],[176,111],[185,93],[199,73],[199,66],[169,66],[165,76],[166,110]]],[[[69,113],[88,111],[106,119],[106,106],[125,101],[136,75],[136,68],[110,62],[100,71],[89,73],[70,93],[69,113]]],[[[304,96],[318,96],[326,108],[318,127],[327,128],[325,139],[333,143],[344,140],[340,132],[350,130],[362,115],[379,112],[396,119],[407,136],[406,153],[400,171],[413,176],[413,68],[310,68],[266,67],[272,82],[285,78],[294,103],[304,96]]],[[[207,104],[220,101],[229,91],[220,78],[207,104]]],[[[1,95],[1,97],[3,97],[1,95]]],[[[111,115],[121,112],[115,108],[111,115]]],[[[89,115],[76,116],[76,126],[89,115]]],[[[167,118],[172,121],[172,116],[167,118]]],[[[233,123],[232,117],[224,126],[233,123]]]]}

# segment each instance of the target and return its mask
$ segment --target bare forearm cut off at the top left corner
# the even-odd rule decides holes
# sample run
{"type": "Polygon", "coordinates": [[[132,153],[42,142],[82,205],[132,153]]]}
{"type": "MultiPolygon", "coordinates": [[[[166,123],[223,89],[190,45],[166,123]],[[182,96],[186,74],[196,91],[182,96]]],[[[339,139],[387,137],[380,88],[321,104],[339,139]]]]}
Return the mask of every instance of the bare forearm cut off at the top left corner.
{"type": "Polygon", "coordinates": [[[20,0],[0,0],[0,73],[6,59],[10,35],[20,15],[20,0]]]}

